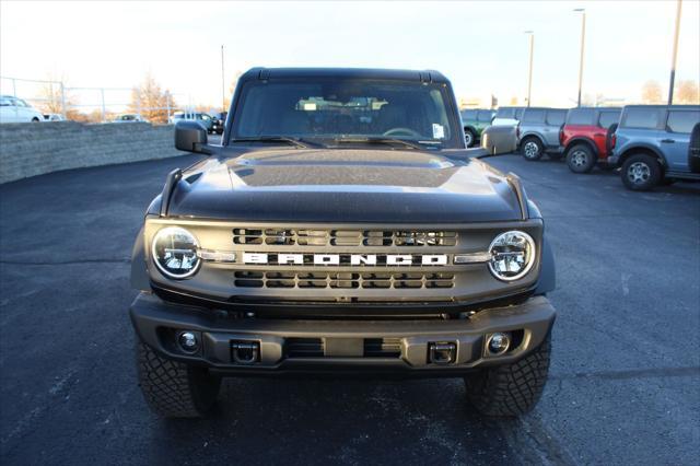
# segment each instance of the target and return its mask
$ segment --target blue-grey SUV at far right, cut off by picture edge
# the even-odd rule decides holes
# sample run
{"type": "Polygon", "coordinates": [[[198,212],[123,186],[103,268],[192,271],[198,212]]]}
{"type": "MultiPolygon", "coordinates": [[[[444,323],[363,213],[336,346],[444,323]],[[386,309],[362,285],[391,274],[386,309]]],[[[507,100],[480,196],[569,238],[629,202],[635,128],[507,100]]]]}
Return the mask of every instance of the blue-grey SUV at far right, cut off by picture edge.
{"type": "Polygon", "coordinates": [[[700,180],[698,105],[630,105],[612,137],[609,163],[621,167],[628,189],[648,190],[662,182],[700,180]]]}

